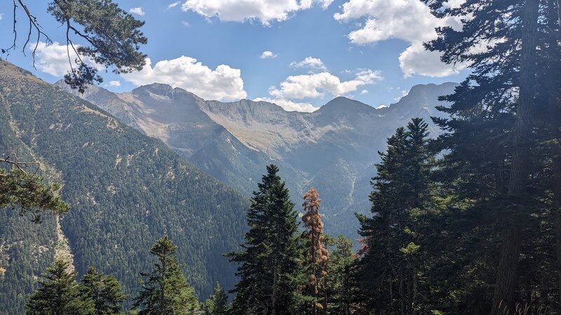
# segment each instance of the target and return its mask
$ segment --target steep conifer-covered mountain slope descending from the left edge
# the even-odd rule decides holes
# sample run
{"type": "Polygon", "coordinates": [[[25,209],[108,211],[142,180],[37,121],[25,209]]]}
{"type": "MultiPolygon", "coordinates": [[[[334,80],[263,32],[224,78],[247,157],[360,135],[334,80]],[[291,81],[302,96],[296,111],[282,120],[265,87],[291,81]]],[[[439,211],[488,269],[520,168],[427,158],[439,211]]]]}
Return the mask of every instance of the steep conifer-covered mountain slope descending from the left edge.
{"type": "MultiPolygon", "coordinates": [[[[133,293],[140,271],[151,267],[151,244],[169,235],[198,293],[212,293],[216,281],[228,287],[234,282],[235,266],[222,253],[241,242],[245,197],[161,141],[4,61],[0,111],[5,113],[0,115],[1,150],[25,148],[52,167],[64,185],[62,195],[72,210],[61,225],[77,271],[93,265],[115,274],[133,293]]],[[[23,218],[13,216],[5,211],[0,216],[0,259],[8,266],[0,277],[0,314],[22,313],[22,304],[19,309],[6,308],[12,292],[23,292],[25,299],[32,289],[29,281],[15,281],[16,276],[38,276],[38,270],[52,262],[56,241],[53,218],[28,230],[23,218]],[[15,232],[20,230],[25,231],[15,232]],[[29,241],[27,234],[33,230],[45,234],[48,244],[35,241],[38,237],[29,241]],[[29,244],[16,258],[11,248],[20,240],[29,244]],[[12,246],[6,250],[5,244],[12,246]],[[46,254],[34,257],[38,251],[46,254]]]]}

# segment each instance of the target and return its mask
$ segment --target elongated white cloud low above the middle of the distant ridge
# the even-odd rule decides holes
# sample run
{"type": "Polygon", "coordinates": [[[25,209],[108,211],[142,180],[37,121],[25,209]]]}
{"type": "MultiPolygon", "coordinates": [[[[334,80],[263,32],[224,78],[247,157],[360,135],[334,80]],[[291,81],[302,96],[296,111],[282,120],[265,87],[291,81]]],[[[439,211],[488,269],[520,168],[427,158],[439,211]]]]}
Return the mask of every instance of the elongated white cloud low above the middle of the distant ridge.
{"type": "Polygon", "coordinates": [[[278,99],[304,99],[323,97],[328,92],[335,96],[354,92],[358,87],[382,80],[379,71],[363,69],[356,73],[356,78],[341,81],[329,72],[289,76],[282,83],[280,89],[270,87],[269,94],[278,99]]]}

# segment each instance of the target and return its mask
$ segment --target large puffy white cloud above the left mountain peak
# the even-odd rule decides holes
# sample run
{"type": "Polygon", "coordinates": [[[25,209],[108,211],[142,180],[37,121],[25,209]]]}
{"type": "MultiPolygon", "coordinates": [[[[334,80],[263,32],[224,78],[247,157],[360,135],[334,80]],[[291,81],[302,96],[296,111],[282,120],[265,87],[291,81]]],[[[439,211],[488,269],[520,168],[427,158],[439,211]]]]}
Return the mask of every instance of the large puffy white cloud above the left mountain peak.
{"type": "Polygon", "coordinates": [[[123,78],[135,85],[166,83],[181,87],[203,99],[234,100],[247,97],[243,90],[240,69],[220,64],[215,70],[197,62],[192,57],[181,56],[161,60],[154,66],[150,58],[141,71],[123,73],[123,78]]]}

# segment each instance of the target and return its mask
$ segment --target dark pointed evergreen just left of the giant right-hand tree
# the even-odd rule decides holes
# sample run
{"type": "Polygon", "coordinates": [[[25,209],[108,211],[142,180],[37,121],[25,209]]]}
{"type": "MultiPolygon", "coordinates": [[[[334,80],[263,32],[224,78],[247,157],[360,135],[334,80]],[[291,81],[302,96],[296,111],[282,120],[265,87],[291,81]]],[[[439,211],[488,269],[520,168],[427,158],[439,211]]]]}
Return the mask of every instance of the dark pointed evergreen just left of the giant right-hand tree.
{"type": "Polygon", "coordinates": [[[380,312],[419,312],[419,255],[421,237],[417,216],[428,200],[432,155],[428,125],[414,118],[388,139],[377,164],[370,195],[372,218],[359,216],[365,249],[360,265],[363,289],[370,307],[380,312]]]}

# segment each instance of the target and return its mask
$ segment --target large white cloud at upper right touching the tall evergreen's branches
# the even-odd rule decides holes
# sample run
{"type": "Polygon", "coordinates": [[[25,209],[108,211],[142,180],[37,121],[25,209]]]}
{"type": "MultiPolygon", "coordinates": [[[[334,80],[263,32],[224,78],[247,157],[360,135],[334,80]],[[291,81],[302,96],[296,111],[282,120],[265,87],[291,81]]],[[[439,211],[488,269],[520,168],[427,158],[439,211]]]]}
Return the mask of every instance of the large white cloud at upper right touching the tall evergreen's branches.
{"type": "MultiPolygon", "coordinates": [[[[459,6],[465,0],[449,0],[449,6],[459,6]]],[[[365,19],[360,27],[349,34],[352,43],[364,45],[399,38],[411,45],[399,57],[405,76],[417,73],[423,76],[450,76],[465,66],[440,62],[440,53],[424,50],[422,43],[437,37],[435,27],[450,25],[461,27],[458,18],[438,19],[419,0],[348,0],[342,12],[335,13],[335,20],[349,22],[365,19]]]]}

